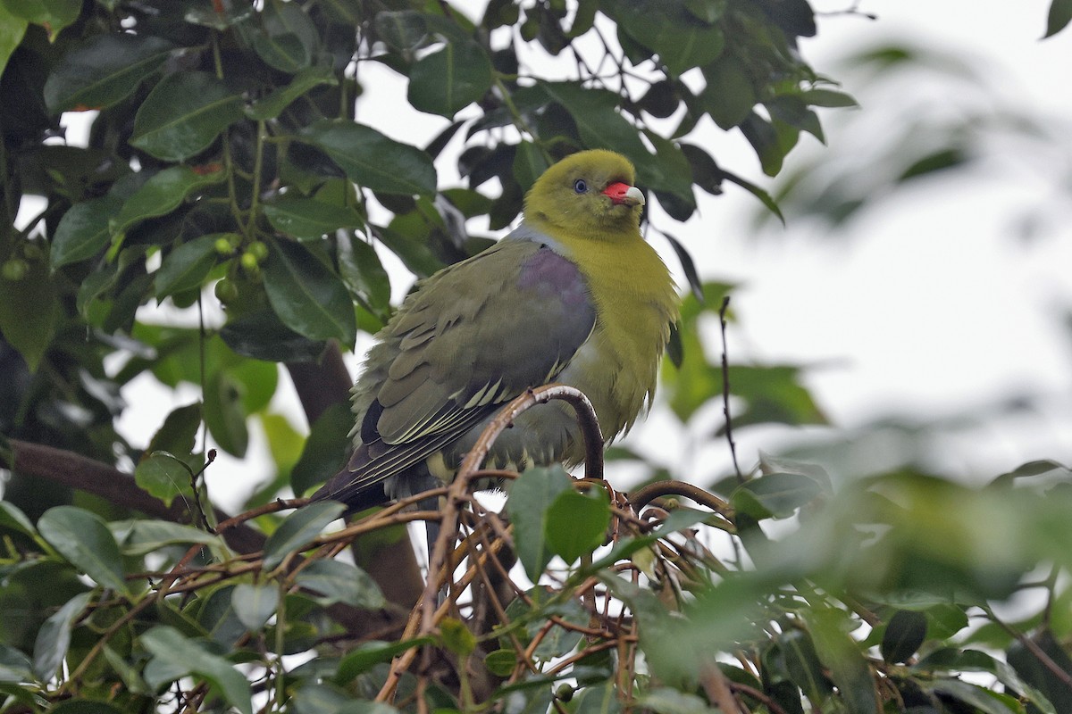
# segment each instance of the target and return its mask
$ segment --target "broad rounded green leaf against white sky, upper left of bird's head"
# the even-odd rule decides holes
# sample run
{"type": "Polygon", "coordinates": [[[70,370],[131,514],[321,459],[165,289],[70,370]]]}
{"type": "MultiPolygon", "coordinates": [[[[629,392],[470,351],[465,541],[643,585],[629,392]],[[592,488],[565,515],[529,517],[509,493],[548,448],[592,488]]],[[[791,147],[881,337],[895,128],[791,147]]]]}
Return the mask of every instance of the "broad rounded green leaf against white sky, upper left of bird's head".
{"type": "Polygon", "coordinates": [[[461,39],[417,60],[407,98],[414,108],[447,119],[478,102],[492,85],[491,60],[476,42],[461,39]]]}

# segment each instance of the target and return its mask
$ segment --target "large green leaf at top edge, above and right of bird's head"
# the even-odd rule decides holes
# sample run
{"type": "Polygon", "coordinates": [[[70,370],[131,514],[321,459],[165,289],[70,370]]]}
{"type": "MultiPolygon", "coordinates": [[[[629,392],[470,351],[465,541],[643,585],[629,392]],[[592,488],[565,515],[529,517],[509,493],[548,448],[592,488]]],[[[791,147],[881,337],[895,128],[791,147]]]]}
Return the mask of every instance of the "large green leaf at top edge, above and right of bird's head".
{"type": "Polygon", "coordinates": [[[714,61],[726,45],[719,26],[704,22],[680,0],[631,0],[602,4],[600,10],[656,52],[673,75],[714,61]]]}

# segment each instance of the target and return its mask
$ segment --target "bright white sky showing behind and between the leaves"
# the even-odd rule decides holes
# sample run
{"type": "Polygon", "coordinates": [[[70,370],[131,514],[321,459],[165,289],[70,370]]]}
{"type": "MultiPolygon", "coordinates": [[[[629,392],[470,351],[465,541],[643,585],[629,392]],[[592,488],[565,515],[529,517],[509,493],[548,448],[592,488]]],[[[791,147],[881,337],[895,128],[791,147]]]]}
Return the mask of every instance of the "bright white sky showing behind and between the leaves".
{"type": "MultiPolygon", "coordinates": [[[[848,4],[848,0],[816,2],[816,9],[839,10],[848,4]]],[[[861,11],[877,14],[878,20],[822,17],[818,36],[803,43],[802,50],[820,73],[848,79],[835,60],[853,47],[883,41],[935,45],[963,57],[986,77],[986,91],[996,91],[1002,101],[1028,113],[1057,117],[1068,128],[1072,124],[1072,91],[1068,89],[1072,30],[1039,42],[1047,7],[1048,0],[1025,0],[1015,6],[997,0],[865,0],[861,11]]],[[[371,70],[362,72],[366,94],[358,108],[359,121],[417,143],[417,137],[431,136],[445,125],[442,118],[400,120],[399,115],[374,110],[404,102],[405,88],[387,81],[387,73],[376,78],[371,70]]],[[[845,89],[858,96],[867,93],[866,86],[855,87],[851,81],[845,89]]],[[[915,90],[925,92],[926,88],[906,89],[915,90]]],[[[798,148],[798,152],[833,156],[843,150],[844,154],[850,128],[843,136],[838,127],[844,119],[859,118],[835,117],[835,112],[823,113],[832,149],[810,141],[814,146],[798,148]]],[[[896,120],[896,111],[881,103],[866,105],[862,112],[873,127],[882,125],[883,115],[896,120]]],[[[710,137],[720,164],[771,186],[736,133],[711,133],[710,137]]],[[[1041,161],[1047,165],[1038,170],[1025,169],[1011,156],[1009,165],[999,161],[977,176],[920,182],[866,211],[852,224],[851,234],[835,239],[825,238],[814,224],[792,219],[786,230],[753,234],[751,215],[758,204],[733,186],[718,199],[703,195],[700,217],[685,227],[658,214],[655,218],[689,247],[703,277],[743,284],[733,294],[740,326],[729,334],[731,360],[816,365],[807,383],[842,428],[891,413],[921,421],[962,413],[985,416],[984,423],[955,430],[935,443],[943,455],[938,465],[947,472],[991,476],[1034,458],[1072,460],[1072,341],[1059,330],[1061,310],[1072,306],[1068,279],[1072,231],[1060,226],[1059,232],[1027,247],[1012,231],[1017,211],[1033,206],[1040,194],[1046,195],[1043,192],[1053,192],[1053,182],[1045,180],[1053,176],[1063,177],[1064,194],[1058,199],[1063,200],[1063,214],[1058,215],[1067,223],[1072,215],[1069,155],[1064,146],[1052,157],[1043,155],[1041,161]],[[1039,412],[992,419],[981,411],[1025,393],[1044,397],[1039,412]]],[[[441,185],[452,184],[453,156],[449,161],[438,163],[441,185]]],[[[654,243],[675,267],[668,246],[658,239],[654,243]]],[[[408,278],[398,275],[396,295],[404,293],[408,284],[408,278]]],[[[711,354],[717,359],[717,341],[712,343],[711,354]]],[[[354,358],[352,371],[356,363],[354,358]]],[[[287,380],[281,379],[280,384],[278,407],[304,428],[287,380]]],[[[131,408],[121,427],[135,443],[143,443],[148,437],[138,435],[158,428],[174,406],[159,391],[147,389],[143,381],[126,393],[131,408]]],[[[187,390],[175,404],[195,398],[196,392],[187,390]]],[[[725,442],[710,436],[720,419],[712,410],[691,425],[688,435],[682,435],[672,417],[657,411],[626,443],[662,454],[659,458],[668,464],[685,454],[675,473],[704,483],[729,466],[725,442]]],[[[829,438],[831,430],[761,428],[740,430],[735,436],[742,466],[748,467],[760,450],[777,451],[804,437],[829,438]]],[[[248,490],[253,481],[267,477],[267,460],[257,453],[263,449],[263,438],[255,434],[244,462],[224,458],[212,467],[215,476],[210,475],[210,490],[224,507],[241,500],[232,492],[236,484],[248,490]]],[[[844,466],[851,459],[831,455],[831,461],[844,466]]],[[[838,467],[833,469],[836,472],[838,467]]]]}

